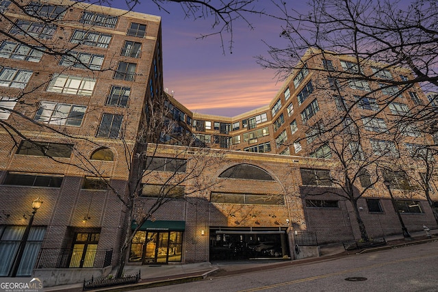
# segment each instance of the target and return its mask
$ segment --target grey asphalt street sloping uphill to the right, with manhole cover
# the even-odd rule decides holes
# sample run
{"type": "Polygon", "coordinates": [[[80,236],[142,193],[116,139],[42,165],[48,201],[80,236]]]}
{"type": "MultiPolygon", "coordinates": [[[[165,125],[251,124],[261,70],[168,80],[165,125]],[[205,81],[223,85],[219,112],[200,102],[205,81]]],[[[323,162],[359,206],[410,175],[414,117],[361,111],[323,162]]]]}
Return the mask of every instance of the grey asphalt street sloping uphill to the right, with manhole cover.
{"type": "Polygon", "coordinates": [[[139,291],[438,291],[438,242],[139,291]]]}

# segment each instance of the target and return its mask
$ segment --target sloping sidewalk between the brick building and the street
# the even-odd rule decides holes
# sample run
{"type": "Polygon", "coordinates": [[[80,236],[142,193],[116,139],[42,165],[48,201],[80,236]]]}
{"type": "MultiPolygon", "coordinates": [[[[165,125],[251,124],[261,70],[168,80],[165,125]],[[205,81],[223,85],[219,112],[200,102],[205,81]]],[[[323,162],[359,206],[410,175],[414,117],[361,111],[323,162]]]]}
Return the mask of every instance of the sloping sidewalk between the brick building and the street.
{"type": "MultiPolygon", "coordinates": [[[[350,250],[346,252],[342,243],[332,243],[321,245],[320,256],[313,258],[302,258],[300,260],[246,260],[246,261],[218,261],[214,263],[192,263],[186,265],[128,265],[125,267],[125,274],[136,273],[140,270],[141,278],[138,284],[127,286],[108,287],[105,289],[96,289],[93,291],[131,291],[135,289],[143,289],[148,287],[165,286],[181,282],[193,282],[202,280],[207,276],[228,276],[235,274],[244,274],[250,271],[259,271],[263,269],[274,269],[276,267],[284,267],[287,265],[302,265],[315,261],[325,261],[340,256],[348,256],[349,254],[374,252],[394,248],[394,246],[420,244],[428,241],[438,240],[438,229],[430,230],[433,238],[427,239],[424,231],[411,233],[412,241],[404,240],[403,236],[391,235],[385,237],[387,245],[381,247],[369,248],[366,250],[350,250]]],[[[62,292],[79,292],[82,291],[82,284],[70,284],[56,287],[44,288],[44,291],[62,291],[62,292]]]]}

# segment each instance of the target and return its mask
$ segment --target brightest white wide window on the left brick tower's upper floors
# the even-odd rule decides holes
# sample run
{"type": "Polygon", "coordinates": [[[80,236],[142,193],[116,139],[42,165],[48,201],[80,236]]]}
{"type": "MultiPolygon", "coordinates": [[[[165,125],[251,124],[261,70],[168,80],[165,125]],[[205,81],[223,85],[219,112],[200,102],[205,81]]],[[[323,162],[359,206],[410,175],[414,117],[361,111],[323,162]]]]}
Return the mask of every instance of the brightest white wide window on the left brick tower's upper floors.
{"type": "Polygon", "coordinates": [[[96,80],[88,77],[54,74],[48,92],[91,96],[96,80]]]}

